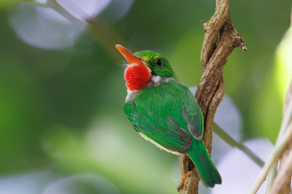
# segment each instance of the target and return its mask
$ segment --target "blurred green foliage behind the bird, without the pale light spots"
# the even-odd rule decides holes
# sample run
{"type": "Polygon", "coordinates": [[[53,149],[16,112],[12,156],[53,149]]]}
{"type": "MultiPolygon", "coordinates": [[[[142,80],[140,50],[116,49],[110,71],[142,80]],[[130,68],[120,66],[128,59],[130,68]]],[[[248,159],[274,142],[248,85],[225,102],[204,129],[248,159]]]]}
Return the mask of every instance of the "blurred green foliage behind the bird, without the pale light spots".
{"type": "MultiPolygon", "coordinates": [[[[177,193],[177,156],[143,140],[124,116],[124,68],[117,64],[124,58],[111,56],[88,31],[65,49],[25,43],[13,26],[19,3],[0,1],[1,175],[91,172],[121,193],[177,193]]],[[[198,85],[200,21],[213,15],[215,1],[133,1],[124,17],[113,19],[122,15],[115,3],[98,17],[123,37],[121,42],[128,43],[123,46],[163,54],[183,83],[198,85]]],[[[290,25],[291,1],[230,1],[230,14],[248,51],[235,49],[228,58],[225,92],[242,115],[243,140],[267,137],[274,143],[291,79],[291,60],[281,62],[287,49],[277,49],[290,25]]],[[[287,41],[291,54],[291,30],[287,41]]],[[[121,43],[109,44],[115,50],[114,44],[121,43]]]]}

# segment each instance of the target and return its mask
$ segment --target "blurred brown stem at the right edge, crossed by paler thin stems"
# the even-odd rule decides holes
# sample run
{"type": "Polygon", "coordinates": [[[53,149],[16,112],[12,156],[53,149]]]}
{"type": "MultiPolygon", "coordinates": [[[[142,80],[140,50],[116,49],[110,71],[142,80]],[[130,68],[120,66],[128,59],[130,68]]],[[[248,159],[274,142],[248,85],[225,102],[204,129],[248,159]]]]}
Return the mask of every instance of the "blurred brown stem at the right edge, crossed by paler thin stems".
{"type": "MultiPolygon", "coordinates": [[[[287,113],[288,104],[292,97],[292,81],[286,92],[283,118],[287,113]]],[[[290,122],[289,125],[292,123],[290,122]]],[[[289,143],[280,158],[280,171],[273,181],[270,194],[288,194],[291,191],[292,178],[292,143],[289,143]]]]}

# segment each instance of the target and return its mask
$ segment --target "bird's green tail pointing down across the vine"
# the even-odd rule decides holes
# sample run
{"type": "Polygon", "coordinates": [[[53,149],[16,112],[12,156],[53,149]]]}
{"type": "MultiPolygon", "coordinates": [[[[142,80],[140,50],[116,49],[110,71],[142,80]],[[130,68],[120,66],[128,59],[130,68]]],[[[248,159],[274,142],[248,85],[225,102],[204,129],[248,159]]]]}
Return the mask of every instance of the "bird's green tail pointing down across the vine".
{"type": "Polygon", "coordinates": [[[192,139],[192,147],[189,148],[189,155],[206,188],[214,187],[215,184],[222,183],[222,178],[212,162],[202,140],[198,141],[192,139]]]}

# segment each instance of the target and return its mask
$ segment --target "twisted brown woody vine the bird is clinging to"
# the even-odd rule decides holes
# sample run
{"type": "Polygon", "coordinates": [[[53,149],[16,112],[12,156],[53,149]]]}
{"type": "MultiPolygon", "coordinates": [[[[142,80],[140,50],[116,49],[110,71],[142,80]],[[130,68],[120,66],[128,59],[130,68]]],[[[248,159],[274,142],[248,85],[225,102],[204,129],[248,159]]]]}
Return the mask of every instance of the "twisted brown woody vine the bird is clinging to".
{"type": "MultiPolygon", "coordinates": [[[[231,22],[228,0],[216,0],[214,15],[207,23],[204,21],[201,23],[205,32],[201,51],[203,75],[195,97],[204,115],[203,141],[211,156],[213,119],[225,90],[223,67],[234,48],[239,47],[244,51],[247,49],[242,36],[237,33],[231,22]]],[[[180,189],[180,194],[197,194],[200,178],[189,157],[184,158],[184,170],[185,172],[193,171],[195,175],[187,177],[184,186],[180,189]]]]}

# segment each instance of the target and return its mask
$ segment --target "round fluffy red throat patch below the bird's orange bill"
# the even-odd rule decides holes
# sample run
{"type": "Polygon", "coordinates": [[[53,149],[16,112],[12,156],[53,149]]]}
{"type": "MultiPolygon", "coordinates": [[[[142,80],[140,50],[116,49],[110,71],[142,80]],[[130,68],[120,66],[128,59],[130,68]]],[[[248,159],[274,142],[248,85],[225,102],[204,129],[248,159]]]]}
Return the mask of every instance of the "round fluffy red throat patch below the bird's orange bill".
{"type": "Polygon", "coordinates": [[[130,91],[146,86],[150,77],[149,68],[145,65],[130,65],[125,70],[126,86],[130,91]]]}

